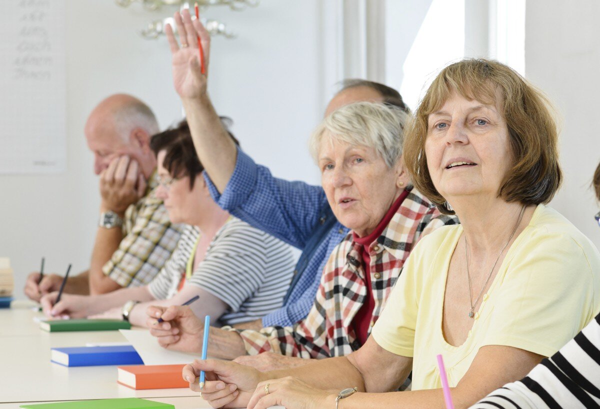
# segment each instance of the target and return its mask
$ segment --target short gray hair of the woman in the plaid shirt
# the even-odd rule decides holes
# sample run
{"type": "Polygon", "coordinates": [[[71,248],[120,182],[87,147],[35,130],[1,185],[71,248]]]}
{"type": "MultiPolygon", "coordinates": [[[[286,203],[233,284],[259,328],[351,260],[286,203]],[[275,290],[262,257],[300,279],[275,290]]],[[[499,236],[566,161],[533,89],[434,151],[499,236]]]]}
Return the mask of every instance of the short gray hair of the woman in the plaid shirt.
{"type": "Polygon", "coordinates": [[[404,124],[408,114],[382,103],[358,102],[335,110],[317,126],[308,140],[308,149],[318,163],[325,131],[333,139],[375,149],[389,168],[402,155],[404,124]]]}

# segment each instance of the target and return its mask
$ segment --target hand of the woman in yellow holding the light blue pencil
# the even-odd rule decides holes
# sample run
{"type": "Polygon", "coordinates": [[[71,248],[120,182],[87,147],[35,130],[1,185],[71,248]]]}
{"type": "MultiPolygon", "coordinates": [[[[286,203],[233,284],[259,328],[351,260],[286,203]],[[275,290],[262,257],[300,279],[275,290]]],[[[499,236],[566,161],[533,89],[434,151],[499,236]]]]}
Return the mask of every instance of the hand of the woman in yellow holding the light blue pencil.
{"type": "Polygon", "coordinates": [[[257,384],[266,380],[263,372],[239,363],[206,359],[194,360],[184,366],[182,375],[190,389],[201,392],[202,398],[214,408],[245,408],[257,384]],[[200,389],[198,376],[206,372],[204,387],[200,389]]]}

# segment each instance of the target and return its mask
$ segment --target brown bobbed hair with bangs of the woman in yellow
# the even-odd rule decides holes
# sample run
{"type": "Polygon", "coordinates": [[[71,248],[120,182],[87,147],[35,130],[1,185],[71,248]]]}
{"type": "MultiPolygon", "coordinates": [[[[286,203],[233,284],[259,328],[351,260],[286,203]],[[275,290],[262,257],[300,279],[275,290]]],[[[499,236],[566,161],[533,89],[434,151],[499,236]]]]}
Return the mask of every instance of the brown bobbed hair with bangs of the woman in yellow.
{"type": "Polygon", "coordinates": [[[428,118],[457,92],[467,100],[496,106],[505,119],[513,163],[498,197],[524,205],[548,203],[560,187],[558,131],[547,98],[512,68],[487,59],[464,59],[444,68],[433,80],[407,126],[404,164],[415,187],[441,212],[453,214],[431,181],[425,156],[428,118]]]}

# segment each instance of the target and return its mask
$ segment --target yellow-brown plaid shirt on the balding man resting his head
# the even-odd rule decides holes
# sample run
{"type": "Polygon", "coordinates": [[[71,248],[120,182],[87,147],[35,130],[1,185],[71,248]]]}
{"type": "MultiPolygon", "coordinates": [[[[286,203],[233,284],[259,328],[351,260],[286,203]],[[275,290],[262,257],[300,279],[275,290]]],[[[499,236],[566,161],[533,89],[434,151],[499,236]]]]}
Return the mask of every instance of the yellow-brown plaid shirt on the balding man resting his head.
{"type": "Polygon", "coordinates": [[[155,196],[158,176],[148,181],[146,196],[129,206],[123,239],[102,271],[121,287],[146,285],[175,250],[182,226],[172,225],[163,201],[155,196]]]}

